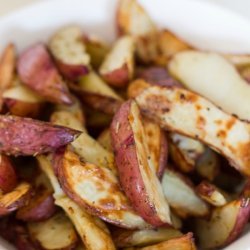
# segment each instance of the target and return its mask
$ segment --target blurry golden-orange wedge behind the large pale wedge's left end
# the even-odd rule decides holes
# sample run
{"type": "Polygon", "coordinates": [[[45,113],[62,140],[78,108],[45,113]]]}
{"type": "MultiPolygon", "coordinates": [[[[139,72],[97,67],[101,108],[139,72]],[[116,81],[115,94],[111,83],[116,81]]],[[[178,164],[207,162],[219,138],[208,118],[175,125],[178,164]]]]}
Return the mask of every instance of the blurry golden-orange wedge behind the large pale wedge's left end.
{"type": "Polygon", "coordinates": [[[166,66],[169,60],[177,53],[190,50],[192,47],[169,30],[161,30],[157,34],[158,56],[157,65],[166,66]]]}

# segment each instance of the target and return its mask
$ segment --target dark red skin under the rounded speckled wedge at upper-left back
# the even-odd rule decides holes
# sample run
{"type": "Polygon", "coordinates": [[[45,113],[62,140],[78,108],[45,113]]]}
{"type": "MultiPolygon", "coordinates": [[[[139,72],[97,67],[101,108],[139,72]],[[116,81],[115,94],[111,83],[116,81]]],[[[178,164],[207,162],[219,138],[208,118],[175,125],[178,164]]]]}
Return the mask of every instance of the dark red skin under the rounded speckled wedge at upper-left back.
{"type": "Polygon", "coordinates": [[[55,59],[56,66],[60,73],[70,81],[77,81],[80,77],[89,73],[89,68],[86,65],[66,64],[55,59]]]}

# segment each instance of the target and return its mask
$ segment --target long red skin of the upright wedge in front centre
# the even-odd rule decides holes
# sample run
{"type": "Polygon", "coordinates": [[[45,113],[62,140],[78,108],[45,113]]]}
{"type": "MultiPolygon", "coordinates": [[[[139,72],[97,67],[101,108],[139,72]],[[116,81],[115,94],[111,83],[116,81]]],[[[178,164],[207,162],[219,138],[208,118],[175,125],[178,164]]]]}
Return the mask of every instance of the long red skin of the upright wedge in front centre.
{"type": "Polygon", "coordinates": [[[153,204],[149,204],[145,185],[139,170],[134,136],[129,124],[131,101],[125,102],[111,123],[111,141],[115,153],[121,186],[134,210],[153,226],[163,226],[153,204]],[[117,125],[120,124],[120,125],[117,125]],[[120,126],[117,133],[117,126],[120,126]]]}

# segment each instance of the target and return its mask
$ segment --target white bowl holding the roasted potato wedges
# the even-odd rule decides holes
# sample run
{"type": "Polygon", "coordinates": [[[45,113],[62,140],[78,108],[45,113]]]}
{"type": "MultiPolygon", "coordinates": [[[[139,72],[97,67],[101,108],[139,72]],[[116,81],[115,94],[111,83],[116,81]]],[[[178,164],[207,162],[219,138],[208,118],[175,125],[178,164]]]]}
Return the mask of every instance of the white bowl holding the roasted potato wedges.
{"type": "MultiPolygon", "coordinates": [[[[197,0],[139,0],[159,27],[194,46],[220,52],[250,53],[250,22],[221,7],[197,0]]],[[[112,41],[117,0],[50,0],[0,19],[0,51],[8,42],[18,50],[46,41],[59,27],[80,24],[84,32],[112,41]]],[[[247,250],[247,232],[227,250],[247,250]]],[[[0,239],[0,249],[13,249],[0,239]]],[[[98,250],[98,249],[97,249],[98,250]]]]}

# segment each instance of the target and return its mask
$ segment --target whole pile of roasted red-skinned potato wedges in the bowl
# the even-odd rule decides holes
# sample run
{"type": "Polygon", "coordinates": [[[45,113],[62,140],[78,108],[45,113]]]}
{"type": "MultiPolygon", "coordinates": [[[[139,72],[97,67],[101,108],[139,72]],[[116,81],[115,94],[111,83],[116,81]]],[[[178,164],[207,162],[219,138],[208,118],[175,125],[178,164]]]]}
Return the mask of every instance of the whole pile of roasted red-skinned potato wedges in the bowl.
{"type": "Polygon", "coordinates": [[[0,57],[0,235],[19,250],[218,249],[250,219],[250,56],[117,5],[0,57]],[[179,34],[181,35],[181,34],[179,34]]]}

